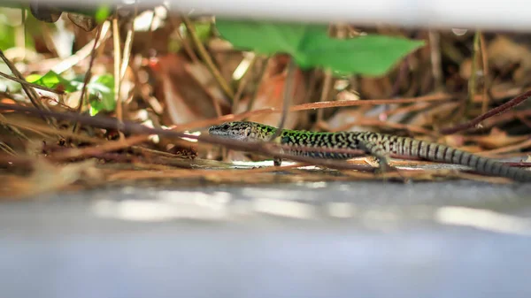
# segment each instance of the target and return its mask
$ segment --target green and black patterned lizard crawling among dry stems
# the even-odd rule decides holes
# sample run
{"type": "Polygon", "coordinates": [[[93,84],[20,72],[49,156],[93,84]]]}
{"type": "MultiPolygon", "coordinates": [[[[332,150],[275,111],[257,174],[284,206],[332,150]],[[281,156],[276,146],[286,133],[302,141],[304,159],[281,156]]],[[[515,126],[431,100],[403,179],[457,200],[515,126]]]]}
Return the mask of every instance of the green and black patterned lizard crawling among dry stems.
{"type": "MultiPolygon", "coordinates": [[[[276,129],[276,127],[256,122],[235,121],[211,126],[209,134],[240,141],[269,141],[276,129]]],[[[524,169],[435,142],[419,141],[392,134],[371,132],[323,133],[285,129],[282,130],[279,138],[283,145],[315,148],[315,150],[294,148],[286,152],[296,156],[349,159],[353,156],[345,153],[323,152],[319,149],[361,149],[367,154],[377,157],[381,167],[389,165],[390,154],[397,154],[406,157],[420,157],[434,162],[462,164],[470,166],[482,174],[506,177],[519,182],[531,181],[531,172],[524,169]]],[[[281,160],[275,158],[275,165],[280,164],[281,160]]]]}

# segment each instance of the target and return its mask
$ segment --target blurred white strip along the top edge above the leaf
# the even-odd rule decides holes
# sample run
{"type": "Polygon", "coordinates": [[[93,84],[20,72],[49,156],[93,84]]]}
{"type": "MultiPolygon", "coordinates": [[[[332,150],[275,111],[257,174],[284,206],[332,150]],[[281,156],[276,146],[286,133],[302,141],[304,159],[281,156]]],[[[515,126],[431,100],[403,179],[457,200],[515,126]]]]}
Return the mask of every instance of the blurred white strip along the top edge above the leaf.
{"type": "MultiPolygon", "coordinates": [[[[27,1],[27,0],[26,0],[27,1]]],[[[48,0],[54,4],[73,4],[71,0],[48,0]]],[[[79,4],[121,3],[118,0],[86,0],[79,4]]],[[[160,0],[141,0],[159,4],[160,0]]],[[[348,21],[422,27],[482,27],[503,30],[531,28],[531,2],[519,0],[171,0],[174,11],[189,14],[214,14],[245,18],[306,21],[348,21]]]]}

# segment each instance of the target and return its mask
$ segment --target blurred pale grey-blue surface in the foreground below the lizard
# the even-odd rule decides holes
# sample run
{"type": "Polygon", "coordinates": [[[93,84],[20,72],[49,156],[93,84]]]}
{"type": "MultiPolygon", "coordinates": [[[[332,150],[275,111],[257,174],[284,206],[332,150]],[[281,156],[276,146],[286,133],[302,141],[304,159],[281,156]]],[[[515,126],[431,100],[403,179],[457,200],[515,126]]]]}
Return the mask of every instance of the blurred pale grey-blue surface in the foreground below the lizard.
{"type": "Polygon", "coordinates": [[[3,297],[529,297],[531,186],[123,187],[0,208],[3,297]]]}

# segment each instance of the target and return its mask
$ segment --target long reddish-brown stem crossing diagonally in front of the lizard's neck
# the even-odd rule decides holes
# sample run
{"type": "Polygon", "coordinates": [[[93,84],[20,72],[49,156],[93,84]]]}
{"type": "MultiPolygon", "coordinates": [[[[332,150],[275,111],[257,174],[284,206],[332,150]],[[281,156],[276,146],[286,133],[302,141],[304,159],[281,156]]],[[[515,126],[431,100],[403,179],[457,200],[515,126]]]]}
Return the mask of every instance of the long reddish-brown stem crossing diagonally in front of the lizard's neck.
{"type": "Polygon", "coordinates": [[[227,139],[212,137],[209,135],[197,136],[197,135],[192,135],[192,134],[184,134],[184,133],[179,133],[179,132],[175,132],[171,130],[165,130],[161,128],[151,128],[148,126],[142,126],[140,124],[130,122],[130,121],[120,122],[115,118],[104,118],[104,117],[94,118],[94,117],[80,115],[80,114],[73,113],[73,112],[58,113],[54,111],[39,111],[39,110],[28,108],[28,107],[22,107],[22,106],[15,105],[15,104],[5,104],[5,103],[0,103],[0,111],[1,110],[24,111],[24,112],[27,112],[28,115],[34,115],[34,116],[41,115],[41,116],[54,117],[54,118],[63,119],[63,120],[78,121],[87,126],[95,126],[99,128],[106,128],[106,129],[116,129],[116,130],[120,130],[120,131],[123,131],[124,133],[129,133],[129,134],[158,134],[160,136],[165,136],[168,138],[187,138],[187,139],[202,141],[204,143],[226,146],[229,149],[257,152],[259,154],[263,154],[266,156],[285,158],[285,159],[290,159],[290,160],[303,162],[307,164],[323,165],[323,166],[327,166],[327,167],[335,168],[335,169],[358,170],[358,171],[367,170],[366,166],[359,166],[357,164],[346,164],[344,162],[338,162],[335,160],[328,160],[328,159],[320,160],[320,159],[315,159],[311,157],[298,157],[298,156],[292,156],[289,154],[280,153],[280,152],[273,151],[272,149],[269,149],[268,147],[266,147],[265,145],[267,145],[267,143],[227,140],[227,139]]]}

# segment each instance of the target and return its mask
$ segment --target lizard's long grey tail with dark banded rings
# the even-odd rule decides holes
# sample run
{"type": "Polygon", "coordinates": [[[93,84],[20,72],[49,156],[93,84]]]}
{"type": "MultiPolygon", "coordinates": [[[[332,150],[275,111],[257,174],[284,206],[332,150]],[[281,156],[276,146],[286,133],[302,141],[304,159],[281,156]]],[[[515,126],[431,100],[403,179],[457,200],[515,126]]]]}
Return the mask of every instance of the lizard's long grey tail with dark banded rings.
{"type": "Polygon", "coordinates": [[[495,159],[480,157],[470,152],[450,148],[435,142],[419,141],[406,137],[397,138],[396,143],[398,145],[402,144],[402,146],[396,146],[393,150],[399,155],[466,165],[483,174],[501,176],[519,182],[531,182],[531,172],[522,168],[512,167],[495,159]]]}

